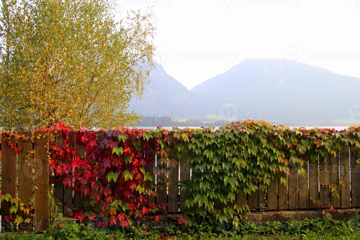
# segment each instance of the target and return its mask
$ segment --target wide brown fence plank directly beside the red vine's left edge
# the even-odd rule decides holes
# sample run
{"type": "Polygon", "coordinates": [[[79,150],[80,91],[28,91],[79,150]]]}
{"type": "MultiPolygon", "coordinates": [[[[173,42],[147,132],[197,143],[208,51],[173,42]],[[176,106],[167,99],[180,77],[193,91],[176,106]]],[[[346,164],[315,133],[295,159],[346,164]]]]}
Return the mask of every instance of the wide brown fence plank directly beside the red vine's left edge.
{"type": "Polygon", "coordinates": [[[34,162],[35,162],[35,192],[34,217],[35,232],[41,232],[49,227],[49,132],[35,132],[34,162]],[[37,166],[36,166],[37,164],[37,166]]]}

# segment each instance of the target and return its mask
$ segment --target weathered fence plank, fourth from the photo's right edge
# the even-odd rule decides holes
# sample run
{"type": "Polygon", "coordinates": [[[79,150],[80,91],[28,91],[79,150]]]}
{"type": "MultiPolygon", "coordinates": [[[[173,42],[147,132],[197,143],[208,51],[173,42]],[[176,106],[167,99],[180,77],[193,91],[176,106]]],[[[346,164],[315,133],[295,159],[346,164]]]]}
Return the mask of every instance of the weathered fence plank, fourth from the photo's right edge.
{"type": "Polygon", "coordinates": [[[330,166],[329,162],[325,162],[323,157],[319,156],[319,173],[320,173],[320,201],[321,204],[330,204],[330,189],[328,185],[330,182],[330,166]]]}

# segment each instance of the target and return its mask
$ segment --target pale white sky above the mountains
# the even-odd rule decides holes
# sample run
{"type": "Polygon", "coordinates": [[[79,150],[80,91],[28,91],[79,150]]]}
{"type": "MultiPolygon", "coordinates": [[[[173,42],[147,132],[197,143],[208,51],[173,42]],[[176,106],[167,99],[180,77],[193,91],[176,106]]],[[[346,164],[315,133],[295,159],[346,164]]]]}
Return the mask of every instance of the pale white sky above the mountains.
{"type": "Polygon", "coordinates": [[[248,58],[287,58],[360,77],[360,0],[118,0],[118,4],[121,12],[154,6],[156,60],[188,89],[248,58]]]}

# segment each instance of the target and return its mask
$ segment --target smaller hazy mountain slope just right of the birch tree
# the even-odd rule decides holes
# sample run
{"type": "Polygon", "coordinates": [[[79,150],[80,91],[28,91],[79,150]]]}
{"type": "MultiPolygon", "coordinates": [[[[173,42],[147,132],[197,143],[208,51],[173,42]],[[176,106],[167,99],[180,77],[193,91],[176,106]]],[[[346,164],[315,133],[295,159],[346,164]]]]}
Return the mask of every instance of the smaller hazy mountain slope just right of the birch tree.
{"type": "Polygon", "coordinates": [[[149,76],[142,99],[133,98],[129,110],[135,110],[142,116],[181,118],[184,113],[191,112],[192,102],[189,90],[168,75],[161,65],[157,66],[149,76]]]}

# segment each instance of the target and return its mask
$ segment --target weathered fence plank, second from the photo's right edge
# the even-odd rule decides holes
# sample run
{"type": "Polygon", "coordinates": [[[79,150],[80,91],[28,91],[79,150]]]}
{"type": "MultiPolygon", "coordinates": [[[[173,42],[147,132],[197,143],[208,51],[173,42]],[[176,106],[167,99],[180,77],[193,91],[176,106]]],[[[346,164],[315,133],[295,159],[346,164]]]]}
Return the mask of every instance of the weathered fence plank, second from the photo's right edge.
{"type": "Polygon", "coordinates": [[[341,185],[341,207],[351,207],[349,145],[347,144],[343,144],[340,149],[340,173],[345,185],[341,185]]]}

